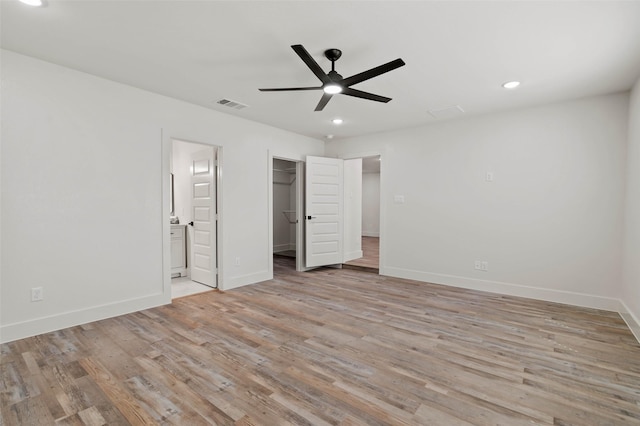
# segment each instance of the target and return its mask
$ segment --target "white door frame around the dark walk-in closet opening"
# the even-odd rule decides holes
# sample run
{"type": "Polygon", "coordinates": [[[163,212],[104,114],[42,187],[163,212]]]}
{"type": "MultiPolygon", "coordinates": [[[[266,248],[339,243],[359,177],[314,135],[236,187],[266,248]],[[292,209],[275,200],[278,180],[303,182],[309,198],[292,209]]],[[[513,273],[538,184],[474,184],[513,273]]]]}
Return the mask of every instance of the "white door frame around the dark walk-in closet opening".
{"type": "Polygon", "coordinates": [[[273,279],[273,160],[286,160],[296,163],[296,271],[308,271],[305,267],[304,257],[304,157],[300,154],[279,153],[271,150],[267,153],[267,193],[268,193],[268,242],[267,258],[269,259],[269,276],[273,279]]]}

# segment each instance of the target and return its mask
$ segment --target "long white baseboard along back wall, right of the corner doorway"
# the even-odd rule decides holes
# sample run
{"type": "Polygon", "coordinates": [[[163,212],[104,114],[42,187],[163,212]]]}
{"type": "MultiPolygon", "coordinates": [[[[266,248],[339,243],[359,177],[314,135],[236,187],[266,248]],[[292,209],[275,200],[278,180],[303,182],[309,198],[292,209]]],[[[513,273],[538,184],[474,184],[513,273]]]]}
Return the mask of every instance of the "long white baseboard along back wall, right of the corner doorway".
{"type": "Polygon", "coordinates": [[[381,267],[380,274],[434,284],[467,288],[470,290],[487,291],[490,293],[526,297],[529,299],[544,300],[547,302],[565,303],[567,305],[581,306],[585,308],[602,309],[605,311],[622,312],[622,310],[625,309],[619,299],[614,299],[612,297],[594,296],[591,294],[552,290],[548,288],[480,280],[455,275],[436,274],[402,268],[381,267]]]}

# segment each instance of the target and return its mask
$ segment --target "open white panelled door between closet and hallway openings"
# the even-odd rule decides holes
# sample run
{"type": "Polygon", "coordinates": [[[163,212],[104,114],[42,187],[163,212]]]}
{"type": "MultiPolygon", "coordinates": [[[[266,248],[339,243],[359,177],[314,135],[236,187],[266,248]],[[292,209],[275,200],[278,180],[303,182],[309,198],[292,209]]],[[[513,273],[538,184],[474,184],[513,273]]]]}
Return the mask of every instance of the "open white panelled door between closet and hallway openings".
{"type": "Polygon", "coordinates": [[[307,156],[306,267],[343,261],[343,160],[307,156]]]}

